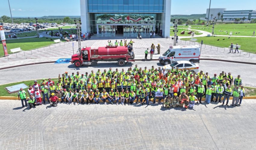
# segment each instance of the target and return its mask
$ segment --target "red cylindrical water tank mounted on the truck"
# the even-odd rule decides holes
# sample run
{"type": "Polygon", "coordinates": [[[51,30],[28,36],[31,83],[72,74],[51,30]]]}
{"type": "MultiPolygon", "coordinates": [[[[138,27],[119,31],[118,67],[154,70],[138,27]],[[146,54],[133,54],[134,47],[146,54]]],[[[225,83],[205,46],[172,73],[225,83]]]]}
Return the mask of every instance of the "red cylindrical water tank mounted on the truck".
{"type": "Polygon", "coordinates": [[[128,48],[126,46],[107,46],[99,47],[98,55],[125,55],[128,54],[128,48]]]}

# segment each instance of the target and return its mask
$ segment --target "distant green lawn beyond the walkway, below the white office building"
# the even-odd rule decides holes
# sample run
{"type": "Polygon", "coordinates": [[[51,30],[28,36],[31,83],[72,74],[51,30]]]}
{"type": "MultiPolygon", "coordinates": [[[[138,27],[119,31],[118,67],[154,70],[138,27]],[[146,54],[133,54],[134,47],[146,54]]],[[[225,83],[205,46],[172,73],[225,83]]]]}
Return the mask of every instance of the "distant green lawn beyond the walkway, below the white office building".
{"type": "MultiPolygon", "coordinates": [[[[180,26],[179,26],[180,27],[180,26]]],[[[203,30],[207,32],[212,32],[212,25],[191,25],[191,29],[203,30]]],[[[252,32],[256,30],[255,23],[244,23],[244,24],[216,24],[214,26],[214,34],[216,35],[241,35],[241,36],[251,36],[252,32]],[[228,33],[226,33],[226,31],[228,33]],[[239,33],[240,32],[240,33],[239,33]]]]}

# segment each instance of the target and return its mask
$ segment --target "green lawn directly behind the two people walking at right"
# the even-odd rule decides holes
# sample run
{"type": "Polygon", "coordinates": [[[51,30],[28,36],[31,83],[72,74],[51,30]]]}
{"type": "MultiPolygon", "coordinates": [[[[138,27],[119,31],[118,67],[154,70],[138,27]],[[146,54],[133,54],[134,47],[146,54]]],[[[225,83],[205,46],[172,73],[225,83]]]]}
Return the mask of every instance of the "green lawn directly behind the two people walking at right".
{"type": "MultiPolygon", "coordinates": [[[[229,47],[231,43],[236,44],[238,43],[241,45],[241,49],[256,53],[256,38],[246,38],[246,37],[198,37],[198,41],[204,41],[204,44],[219,46],[219,47],[229,47]],[[217,41],[220,39],[219,41],[217,41]],[[223,40],[225,39],[225,40],[223,40]]],[[[182,40],[189,41],[190,38],[184,38],[182,40]]]]}

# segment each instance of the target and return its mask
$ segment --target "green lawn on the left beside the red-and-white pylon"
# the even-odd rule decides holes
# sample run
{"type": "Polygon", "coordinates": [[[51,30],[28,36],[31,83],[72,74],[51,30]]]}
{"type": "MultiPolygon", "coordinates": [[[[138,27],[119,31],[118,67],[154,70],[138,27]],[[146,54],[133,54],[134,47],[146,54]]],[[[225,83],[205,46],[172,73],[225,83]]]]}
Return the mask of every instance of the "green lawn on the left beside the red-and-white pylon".
{"type": "MultiPolygon", "coordinates": [[[[14,40],[6,40],[6,45],[8,49],[8,53],[11,54],[10,49],[18,48],[22,50],[30,50],[35,49],[47,45],[54,44],[54,41],[50,40],[51,38],[23,38],[23,39],[14,39],[14,40]]],[[[56,38],[52,38],[56,40],[56,38]]],[[[64,41],[64,40],[63,40],[64,41]]],[[[4,55],[3,47],[0,46],[0,56],[4,55]]]]}

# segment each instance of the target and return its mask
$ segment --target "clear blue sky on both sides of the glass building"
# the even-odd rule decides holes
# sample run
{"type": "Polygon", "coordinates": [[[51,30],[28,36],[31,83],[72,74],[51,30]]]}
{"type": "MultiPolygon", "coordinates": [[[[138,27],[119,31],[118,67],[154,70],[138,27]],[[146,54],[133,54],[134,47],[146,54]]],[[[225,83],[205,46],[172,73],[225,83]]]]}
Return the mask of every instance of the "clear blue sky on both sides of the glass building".
{"type": "MultiPolygon", "coordinates": [[[[80,0],[9,0],[14,17],[79,16],[80,0]]],[[[171,14],[202,14],[210,0],[172,0],[171,14]]],[[[255,0],[212,0],[211,8],[255,10],[255,0]]],[[[0,16],[10,15],[8,0],[1,0],[0,16]]]]}

